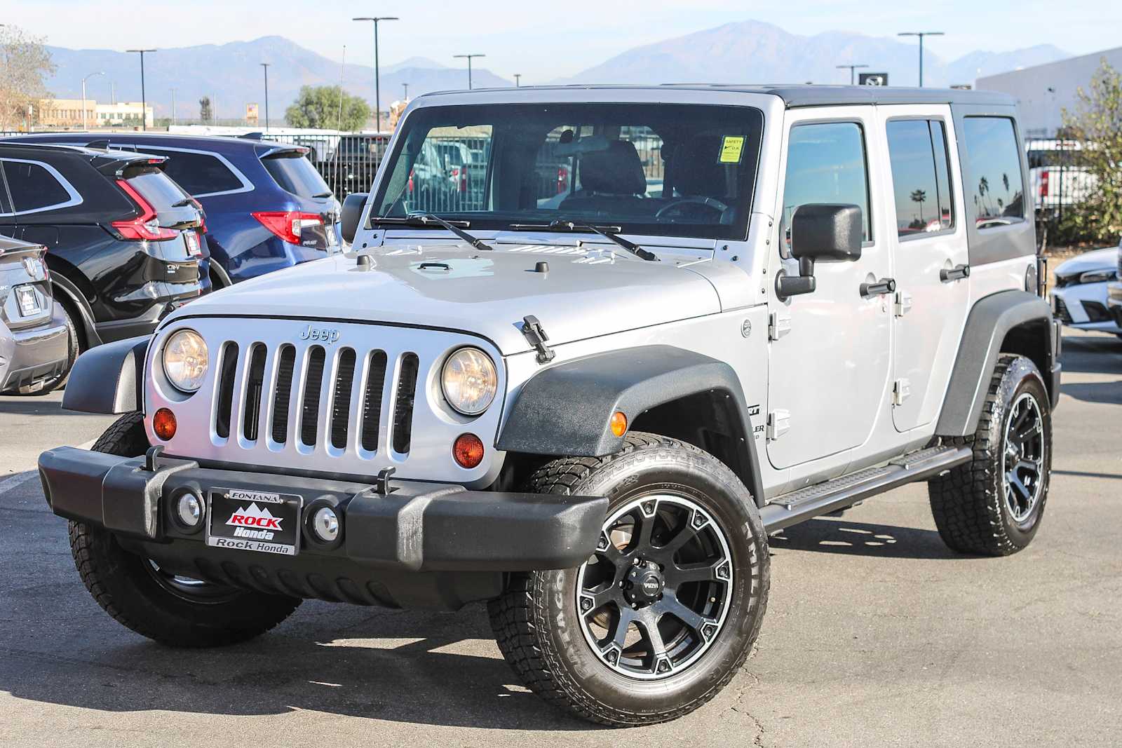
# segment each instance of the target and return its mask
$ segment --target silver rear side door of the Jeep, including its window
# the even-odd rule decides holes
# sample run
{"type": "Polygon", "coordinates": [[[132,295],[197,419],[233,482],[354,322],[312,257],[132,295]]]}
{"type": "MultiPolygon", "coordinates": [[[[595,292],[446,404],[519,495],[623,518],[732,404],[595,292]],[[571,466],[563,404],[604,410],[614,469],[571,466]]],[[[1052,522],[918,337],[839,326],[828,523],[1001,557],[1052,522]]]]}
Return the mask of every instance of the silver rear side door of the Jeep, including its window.
{"type": "Polygon", "coordinates": [[[885,107],[892,173],[895,353],[892,423],[939,415],[968,307],[966,224],[949,107],[885,107]]]}

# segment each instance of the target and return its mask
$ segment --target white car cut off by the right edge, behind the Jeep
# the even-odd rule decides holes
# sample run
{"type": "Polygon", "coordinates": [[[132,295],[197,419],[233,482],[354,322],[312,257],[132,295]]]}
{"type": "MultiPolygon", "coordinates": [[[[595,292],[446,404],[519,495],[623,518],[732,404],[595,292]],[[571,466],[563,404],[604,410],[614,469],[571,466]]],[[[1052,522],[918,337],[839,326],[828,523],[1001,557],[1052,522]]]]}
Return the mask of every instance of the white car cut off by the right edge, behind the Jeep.
{"type": "Polygon", "coordinates": [[[1106,286],[1122,271],[1122,242],[1084,252],[1056,267],[1056,287],[1051,292],[1056,317],[1080,330],[1098,330],[1122,336],[1119,317],[1107,308],[1106,286]]]}

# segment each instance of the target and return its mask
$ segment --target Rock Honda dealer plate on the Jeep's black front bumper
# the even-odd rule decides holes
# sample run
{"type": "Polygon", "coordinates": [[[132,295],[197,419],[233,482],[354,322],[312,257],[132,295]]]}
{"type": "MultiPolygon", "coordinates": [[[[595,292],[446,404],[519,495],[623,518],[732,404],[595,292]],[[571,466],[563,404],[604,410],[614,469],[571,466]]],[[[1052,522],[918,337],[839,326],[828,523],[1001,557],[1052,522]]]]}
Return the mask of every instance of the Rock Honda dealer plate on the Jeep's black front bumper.
{"type": "Polygon", "coordinates": [[[303,499],[240,488],[214,488],[208,498],[206,545],[296,555],[303,499]]]}

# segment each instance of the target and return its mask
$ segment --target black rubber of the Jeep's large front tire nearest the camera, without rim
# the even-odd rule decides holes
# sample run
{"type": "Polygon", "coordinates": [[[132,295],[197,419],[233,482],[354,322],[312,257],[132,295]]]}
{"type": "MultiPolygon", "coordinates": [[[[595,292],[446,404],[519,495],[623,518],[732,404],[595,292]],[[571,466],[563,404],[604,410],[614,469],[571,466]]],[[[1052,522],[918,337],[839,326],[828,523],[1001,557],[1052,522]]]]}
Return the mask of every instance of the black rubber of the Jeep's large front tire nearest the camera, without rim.
{"type": "Polygon", "coordinates": [[[752,495],[732,470],[690,444],[632,433],[615,454],[544,464],[527,490],[606,496],[610,515],[644,486],[686,489],[729,542],[732,604],[696,662],[659,681],[628,678],[605,665],[586,641],[577,613],[578,570],[513,574],[505,593],[488,606],[499,649],[527,687],[577,717],[613,727],[677,719],[717,695],[747,658],[767,607],[767,536],[752,495]]]}

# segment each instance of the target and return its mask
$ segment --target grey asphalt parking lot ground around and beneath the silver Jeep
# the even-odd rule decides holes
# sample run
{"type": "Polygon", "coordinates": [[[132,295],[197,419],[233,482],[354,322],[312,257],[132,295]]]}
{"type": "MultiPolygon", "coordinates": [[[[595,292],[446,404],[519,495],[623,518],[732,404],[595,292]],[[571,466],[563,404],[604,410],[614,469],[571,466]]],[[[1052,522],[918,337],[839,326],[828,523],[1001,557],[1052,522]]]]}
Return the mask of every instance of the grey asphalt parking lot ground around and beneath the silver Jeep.
{"type": "Polygon", "coordinates": [[[1034,543],[971,558],[922,484],[772,543],[757,652],[712,703],[606,731],[521,685],[481,608],[305,602],[274,632],[177,652],[112,621],[74,571],[38,453],[112,418],[0,397],[0,745],[1116,745],[1122,736],[1122,341],[1068,333],[1034,543]]]}

